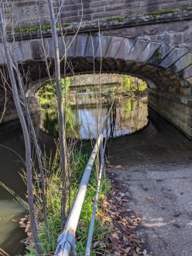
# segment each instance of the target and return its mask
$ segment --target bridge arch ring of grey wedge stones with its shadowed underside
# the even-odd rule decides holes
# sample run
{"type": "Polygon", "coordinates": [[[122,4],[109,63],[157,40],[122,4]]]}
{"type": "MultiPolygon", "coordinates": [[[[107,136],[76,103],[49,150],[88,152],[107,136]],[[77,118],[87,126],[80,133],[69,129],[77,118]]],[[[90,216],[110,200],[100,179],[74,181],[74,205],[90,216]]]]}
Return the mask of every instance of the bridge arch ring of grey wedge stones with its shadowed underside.
{"type": "MultiPolygon", "coordinates": [[[[32,96],[46,82],[46,60],[53,74],[53,40],[44,38],[15,44],[12,48],[16,59],[22,68],[30,67],[27,93],[32,96]]],[[[149,85],[149,105],[192,137],[192,54],[189,51],[166,43],[117,36],[60,36],[59,44],[60,57],[67,58],[67,75],[101,71],[142,78],[149,85]]],[[[0,51],[3,52],[2,45],[0,51]]],[[[63,65],[64,61],[62,70],[63,65]]]]}

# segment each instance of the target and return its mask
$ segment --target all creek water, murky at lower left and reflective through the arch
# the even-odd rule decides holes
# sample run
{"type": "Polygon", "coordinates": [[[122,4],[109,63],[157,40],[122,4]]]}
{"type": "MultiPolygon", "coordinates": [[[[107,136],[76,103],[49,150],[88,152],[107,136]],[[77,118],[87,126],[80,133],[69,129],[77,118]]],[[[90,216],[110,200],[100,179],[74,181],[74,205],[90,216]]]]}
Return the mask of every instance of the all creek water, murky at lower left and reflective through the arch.
{"type": "MultiPolygon", "coordinates": [[[[108,107],[94,106],[92,108],[67,109],[67,136],[77,139],[97,137],[101,129],[101,121],[105,118],[108,107]]],[[[115,106],[114,136],[134,133],[148,123],[146,102],[121,98],[115,106]]],[[[43,109],[35,116],[39,143],[49,152],[55,147],[57,137],[57,112],[55,109],[43,109]]],[[[26,185],[21,175],[24,165],[21,157],[25,157],[25,147],[22,131],[18,122],[0,126],[0,181],[25,199],[26,185]]],[[[25,232],[19,228],[17,220],[25,215],[25,209],[0,186],[0,248],[16,255],[24,250],[20,241],[25,238],[25,232]]]]}

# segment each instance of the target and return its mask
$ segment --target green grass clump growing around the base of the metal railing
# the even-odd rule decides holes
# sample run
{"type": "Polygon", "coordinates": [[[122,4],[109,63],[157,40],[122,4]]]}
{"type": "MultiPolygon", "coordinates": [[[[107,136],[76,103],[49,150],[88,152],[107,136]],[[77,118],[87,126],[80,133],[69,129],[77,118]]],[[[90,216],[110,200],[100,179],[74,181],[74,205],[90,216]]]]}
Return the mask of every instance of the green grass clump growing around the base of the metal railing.
{"type": "MultiPolygon", "coordinates": [[[[70,196],[69,196],[69,210],[72,206],[77,190],[81,181],[81,177],[84,173],[88,157],[91,150],[86,153],[82,153],[80,149],[74,149],[70,157],[69,171],[70,171],[70,196]]],[[[52,158],[52,157],[50,157],[52,158]]],[[[47,210],[48,210],[48,225],[50,229],[50,240],[46,238],[45,221],[40,220],[39,222],[39,239],[43,247],[43,254],[49,255],[53,253],[57,247],[57,237],[61,230],[61,216],[60,216],[60,199],[62,193],[62,175],[60,168],[60,154],[57,150],[53,160],[46,161],[46,199],[47,199],[47,210]]],[[[91,213],[93,208],[93,200],[95,195],[95,189],[97,184],[98,168],[94,165],[91,174],[91,181],[89,182],[84,205],[81,211],[80,221],[77,227],[77,255],[83,255],[87,243],[87,234],[89,224],[91,220],[91,213]]],[[[39,185],[36,186],[37,188],[39,185]]],[[[108,194],[111,190],[111,185],[108,180],[104,177],[101,181],[101,189],[99,194],[99,210],[101,210],[101,199],[108,194]]],[[[36,201],[36,209],[40,216],[41,211],[41,199],[40,196],[36,201]]],[[[105,244],[106,237],[110,230],[103,225],[99,214],[95,220],[94,226],[94,240],[93,243],[100,240],[105,244]]],[[[91,255],[102,254],[104,248],[97,247],[93,248],[91,255]]],[[[27,247],[27,255],[35,256],[36,250],[29,246],[27,247]]]]}

